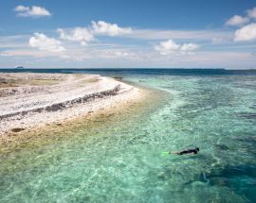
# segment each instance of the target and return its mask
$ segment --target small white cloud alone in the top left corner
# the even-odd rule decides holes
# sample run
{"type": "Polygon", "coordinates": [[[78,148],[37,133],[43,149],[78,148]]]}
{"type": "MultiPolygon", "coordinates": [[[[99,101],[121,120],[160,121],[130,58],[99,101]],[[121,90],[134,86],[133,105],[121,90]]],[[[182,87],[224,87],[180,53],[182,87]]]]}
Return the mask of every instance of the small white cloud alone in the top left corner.
{"type": "Polygon", "coordinates": [[[51,15],[51,13],[46,8],[38,6],[24,7],[20,5],[15,7],[14,11],[17,12],[18,16],[22,17],[43,17],[51,15]]]}

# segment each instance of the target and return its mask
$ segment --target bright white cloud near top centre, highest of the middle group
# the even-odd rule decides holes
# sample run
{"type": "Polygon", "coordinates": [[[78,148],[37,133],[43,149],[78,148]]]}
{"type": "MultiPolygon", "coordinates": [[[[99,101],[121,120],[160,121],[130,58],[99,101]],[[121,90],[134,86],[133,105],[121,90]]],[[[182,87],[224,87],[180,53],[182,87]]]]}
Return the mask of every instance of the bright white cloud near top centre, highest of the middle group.
{"type": "Polygon", "coordinates": [[[117,24],[109,24],[104,21],[92,21],[92,30],[96,34],[104,34],[109,36],[119,36],[132,32],[131,27],[119,27],[117,24]]]}

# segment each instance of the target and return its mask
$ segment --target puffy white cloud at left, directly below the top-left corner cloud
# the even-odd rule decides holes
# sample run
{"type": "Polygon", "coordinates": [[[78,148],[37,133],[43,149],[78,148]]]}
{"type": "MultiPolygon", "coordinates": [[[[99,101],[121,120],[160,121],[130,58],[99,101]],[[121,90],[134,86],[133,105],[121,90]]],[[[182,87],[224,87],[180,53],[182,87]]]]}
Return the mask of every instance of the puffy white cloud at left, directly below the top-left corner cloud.
{"type": "Polygon", "coordinates": [[[48,52],[63,52],[65,50],[60,41],[48,38],[43,33],[34,33],[34,36],[29,39],[29,45],[48,52]]]}

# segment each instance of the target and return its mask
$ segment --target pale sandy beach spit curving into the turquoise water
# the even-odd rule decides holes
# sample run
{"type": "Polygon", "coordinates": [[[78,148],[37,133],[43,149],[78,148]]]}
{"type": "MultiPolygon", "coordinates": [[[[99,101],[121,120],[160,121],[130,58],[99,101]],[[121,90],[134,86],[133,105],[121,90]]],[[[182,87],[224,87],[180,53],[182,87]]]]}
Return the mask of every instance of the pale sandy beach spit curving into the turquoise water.
{"type": "MultiPolygon", "coordinates": [[[[0,74],[0,136],[123,107],[143,91],[114,78],[75,74],[0,74]]],[[[123,107],[124,108],[124,107],[123,107]]]]}

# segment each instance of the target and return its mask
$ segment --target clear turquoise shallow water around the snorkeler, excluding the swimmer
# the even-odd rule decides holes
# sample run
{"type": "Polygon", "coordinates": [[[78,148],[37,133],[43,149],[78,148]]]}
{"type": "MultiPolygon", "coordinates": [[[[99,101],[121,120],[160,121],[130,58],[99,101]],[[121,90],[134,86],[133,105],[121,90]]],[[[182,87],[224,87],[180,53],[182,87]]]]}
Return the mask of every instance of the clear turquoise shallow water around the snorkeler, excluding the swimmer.
{"type": "Polygon", "coordinates": [[[0,202],[256,201],[256,75],[119,75],[158,104],[0,154],[0,202]]]}

